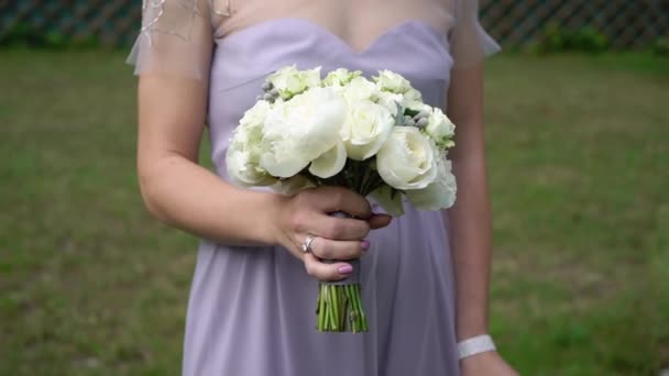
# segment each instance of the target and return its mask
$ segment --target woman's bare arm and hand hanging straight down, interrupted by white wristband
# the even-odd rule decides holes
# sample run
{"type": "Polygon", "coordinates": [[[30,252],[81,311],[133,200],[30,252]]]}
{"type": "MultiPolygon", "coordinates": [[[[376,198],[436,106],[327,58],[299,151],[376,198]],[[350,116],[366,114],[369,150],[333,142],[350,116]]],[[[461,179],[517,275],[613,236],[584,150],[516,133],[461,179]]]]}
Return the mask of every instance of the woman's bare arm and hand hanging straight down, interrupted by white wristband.
{"type": "MultiPolygon", "coordinates": [[[[456,147],[449,153],[458,199],[448,211],[456,274],[458,341],[489,330],[489,284],[492,219],[483,133],[483,64],[452,71],[448,114],[456,124],[456,147]]],[[[446,212],[445,212],[446,213],[446,212]]],[[[496,353],[462,362],[464,375],[514,375],[496,353]]]]}

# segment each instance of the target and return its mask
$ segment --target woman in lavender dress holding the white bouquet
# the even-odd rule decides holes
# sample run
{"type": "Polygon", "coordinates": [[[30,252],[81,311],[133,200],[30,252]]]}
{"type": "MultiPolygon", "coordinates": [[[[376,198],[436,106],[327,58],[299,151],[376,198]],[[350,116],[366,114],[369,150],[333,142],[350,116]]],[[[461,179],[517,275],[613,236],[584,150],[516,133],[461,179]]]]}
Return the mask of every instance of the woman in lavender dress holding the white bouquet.
{"type": "Polygon", "coordinates": [[[133,56],[141,190],[155,217],[202,237],[184,375],[515,374],[482,336],[491,229],[481,60],[496,45],[479,25],[476,1],[144,2],[133,56]],[[284,197],[226,183],[232,129],[264,77],[293,64],[391,69],[428,104],[448,108],[458,124],[456,207],[418,212],[405,203],[391,221],[342,188],[284,197]],[[205,122],[218,176],[197,165],[205,122]],[[358,219],[327,214],[337,210],[358,219]],[[358,256],[370,331],[317,332],[318,280],[359,272],[320,259],[358,256]]]}

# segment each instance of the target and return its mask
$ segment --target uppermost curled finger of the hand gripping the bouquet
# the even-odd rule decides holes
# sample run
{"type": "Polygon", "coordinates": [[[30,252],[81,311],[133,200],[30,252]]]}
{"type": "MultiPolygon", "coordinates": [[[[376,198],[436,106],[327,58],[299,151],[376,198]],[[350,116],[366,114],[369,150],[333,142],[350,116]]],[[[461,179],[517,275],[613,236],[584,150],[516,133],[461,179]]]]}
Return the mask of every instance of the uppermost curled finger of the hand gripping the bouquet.
{"type": "Polygon", "coordinates": [[[323,186],[310,191],[316,206],[323,212],[343,211],[352,217],[368,219],[372,215],[370,202],[350,189],[323,186]]]}

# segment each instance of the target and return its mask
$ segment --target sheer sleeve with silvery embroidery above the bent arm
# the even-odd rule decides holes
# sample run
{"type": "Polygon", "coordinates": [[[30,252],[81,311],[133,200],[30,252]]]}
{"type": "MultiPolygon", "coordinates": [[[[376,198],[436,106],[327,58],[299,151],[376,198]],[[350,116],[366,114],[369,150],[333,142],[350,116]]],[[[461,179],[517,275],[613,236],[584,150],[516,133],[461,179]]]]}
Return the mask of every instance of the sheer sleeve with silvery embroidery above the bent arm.
{"type": "Polygon", "coordinates": [[[128,63],[135,74],[208,81],[212,52],[208,0],[143,0],[142,29],[128,63]]]}

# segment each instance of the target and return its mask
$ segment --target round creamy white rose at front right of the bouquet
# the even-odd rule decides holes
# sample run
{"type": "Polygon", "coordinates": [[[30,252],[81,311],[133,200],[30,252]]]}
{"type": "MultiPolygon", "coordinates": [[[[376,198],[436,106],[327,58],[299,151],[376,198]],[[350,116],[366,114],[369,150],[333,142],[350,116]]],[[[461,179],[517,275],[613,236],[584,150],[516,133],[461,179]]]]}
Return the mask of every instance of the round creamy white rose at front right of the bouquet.
{"type": "Polygon", "coordinates": [[[415,126],[394,126],[376,154],[379,175],[396,189],[423,189],[437,177],[439,153],[415,126]]]}

